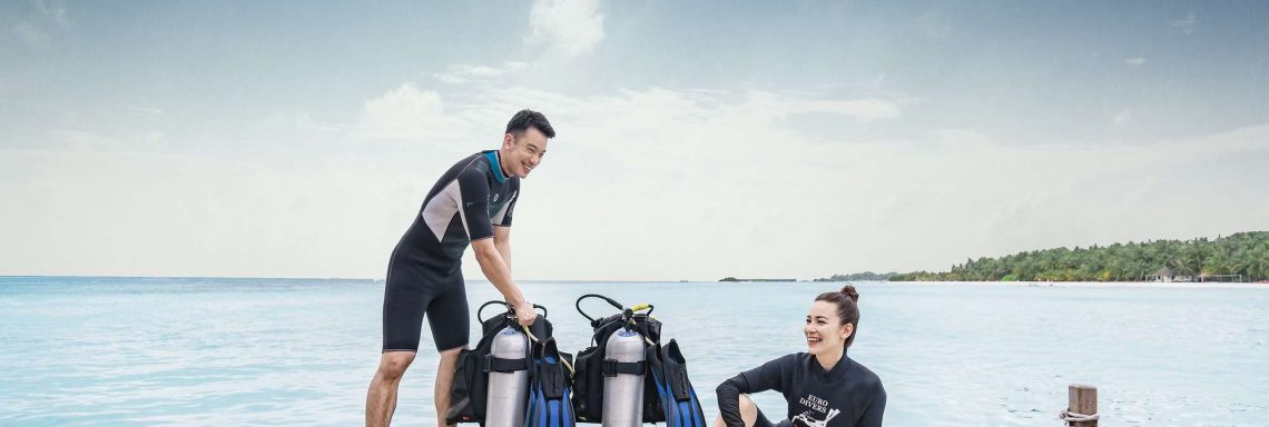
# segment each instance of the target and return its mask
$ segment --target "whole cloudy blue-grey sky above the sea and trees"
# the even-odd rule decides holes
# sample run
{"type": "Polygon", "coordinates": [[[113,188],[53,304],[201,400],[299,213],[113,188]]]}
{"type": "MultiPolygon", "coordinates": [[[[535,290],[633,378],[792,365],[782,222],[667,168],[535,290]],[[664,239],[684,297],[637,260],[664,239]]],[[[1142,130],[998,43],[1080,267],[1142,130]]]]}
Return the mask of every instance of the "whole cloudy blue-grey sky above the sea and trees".
{"type": "MultiPolygon", "coordinates": [[[[1263,1],[3,1],[0,275],[383,276],[530,108],[520,280],[1269,229],[1263,1]]],[[[468,279],[481,277],[470,256],[468,279]]]]}

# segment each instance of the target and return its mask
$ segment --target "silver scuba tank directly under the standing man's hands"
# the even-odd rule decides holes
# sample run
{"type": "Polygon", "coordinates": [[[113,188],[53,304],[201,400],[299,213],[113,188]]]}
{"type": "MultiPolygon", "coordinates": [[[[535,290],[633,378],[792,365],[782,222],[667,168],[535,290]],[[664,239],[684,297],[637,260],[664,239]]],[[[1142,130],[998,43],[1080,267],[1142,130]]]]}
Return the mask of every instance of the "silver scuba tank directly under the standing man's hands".
{"type": "MultiPolygon", "coordinates": [[[[529,362],[529,338],[523,332],[506,327],[494,337],[490,356],[497,359],[524,359],[529,362]]],[[[489,400],[485,405],[485,427],[520,427],[524,407],[529,397],[529,371],[489,373],[489,400]]]]}

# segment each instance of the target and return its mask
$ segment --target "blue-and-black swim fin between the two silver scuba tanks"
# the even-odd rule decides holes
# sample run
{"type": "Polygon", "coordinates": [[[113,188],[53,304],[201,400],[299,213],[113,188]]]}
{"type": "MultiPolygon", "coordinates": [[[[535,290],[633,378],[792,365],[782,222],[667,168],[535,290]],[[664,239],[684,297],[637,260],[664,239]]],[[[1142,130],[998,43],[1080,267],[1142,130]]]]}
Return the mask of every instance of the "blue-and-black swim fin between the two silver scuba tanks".
{"type": "Polygon", "coordinates": [[[529,405],[524,411],[524,427],[572,427],[572,389],[565,362],[555,338],[533,345],[533,367],[529,369],[529,405]]]}

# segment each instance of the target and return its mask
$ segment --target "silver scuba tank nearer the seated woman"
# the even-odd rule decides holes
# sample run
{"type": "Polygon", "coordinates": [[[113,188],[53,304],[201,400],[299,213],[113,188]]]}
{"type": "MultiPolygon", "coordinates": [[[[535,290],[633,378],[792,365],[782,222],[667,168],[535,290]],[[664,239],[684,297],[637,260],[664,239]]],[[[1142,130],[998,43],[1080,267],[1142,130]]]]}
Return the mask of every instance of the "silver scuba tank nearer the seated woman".
{"type": "MultiPolygon", "coordinates": [[[[643,336],[622,328],[608,337],[604,359],[618,362],[643,361],[643,336]]],[[[637,427],[643,423],[643,374],[604,376],[604,427],[637,427]]]]}

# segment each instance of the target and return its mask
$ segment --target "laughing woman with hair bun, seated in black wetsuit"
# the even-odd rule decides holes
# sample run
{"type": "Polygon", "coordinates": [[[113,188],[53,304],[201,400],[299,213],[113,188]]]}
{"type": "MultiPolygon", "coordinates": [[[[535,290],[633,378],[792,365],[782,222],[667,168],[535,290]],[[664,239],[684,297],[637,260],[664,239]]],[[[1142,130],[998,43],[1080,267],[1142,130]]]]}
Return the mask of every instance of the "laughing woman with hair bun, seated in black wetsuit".
{"type": "Polygon", "coordinates": [[[877,427],[886,411],[886,389],[877,374],[846,357],[859,323],[859,294],[815,298],[806,314],[807,352],[793,354],[741,373],[718,385],[714,426],[877,427]],[[773,424],[742,393],[777,390],[788,400],[788,419],[773,424]]]}

